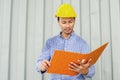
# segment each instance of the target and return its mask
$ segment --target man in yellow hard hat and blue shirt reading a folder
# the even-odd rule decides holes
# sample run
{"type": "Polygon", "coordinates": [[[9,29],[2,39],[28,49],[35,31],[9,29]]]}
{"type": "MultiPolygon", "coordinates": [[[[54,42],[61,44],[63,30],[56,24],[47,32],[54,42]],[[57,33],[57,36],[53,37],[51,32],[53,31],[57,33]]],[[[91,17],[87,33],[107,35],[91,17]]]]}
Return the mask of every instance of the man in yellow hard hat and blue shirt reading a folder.
{"type": "MultiPolygon", "coordinates": [[[[73,30],[75,24],[76,13],[71,5],[62,4],[58,8],[55,14],[58,24],[61,28],[59,35],[54,36],[47,40],[44,48],[41,51],[41,55],[37,60],[37,71],[44,73],[50,66],[50,59],[56,49],[72,51],[78,53],[88,53],[89,47],[85,40],[77,36],[73,30]]],[[[69,70],[78,72],[76,76],[51,74],[50,80],[85,80],[85,78],[91,78],[95,69],[94,66],[90,66],[91,59],[78,60],[79,64],[70,62],[69,70]]],[[[59,66],[59,65],[58,65],[59,66]]]]}

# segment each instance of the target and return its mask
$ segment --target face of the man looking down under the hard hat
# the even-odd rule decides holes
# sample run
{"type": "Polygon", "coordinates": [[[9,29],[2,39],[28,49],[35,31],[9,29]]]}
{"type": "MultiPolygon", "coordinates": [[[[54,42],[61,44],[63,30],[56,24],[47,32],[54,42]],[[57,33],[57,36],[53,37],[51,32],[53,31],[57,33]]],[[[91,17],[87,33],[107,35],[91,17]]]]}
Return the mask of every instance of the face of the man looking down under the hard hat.
{"type": "Polygon", "coordinates": [[[73,32],[75,18],[59,18],[58,23],[61,27],[62,33],[69,35],[73,32]]]}

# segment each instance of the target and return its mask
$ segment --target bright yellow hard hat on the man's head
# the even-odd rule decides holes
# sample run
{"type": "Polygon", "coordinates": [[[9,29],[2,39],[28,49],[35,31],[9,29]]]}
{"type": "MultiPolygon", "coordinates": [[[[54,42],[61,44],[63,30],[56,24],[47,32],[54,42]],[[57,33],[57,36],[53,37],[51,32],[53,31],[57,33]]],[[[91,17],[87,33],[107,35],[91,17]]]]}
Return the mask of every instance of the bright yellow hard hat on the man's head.
{"type": "Polygon", "coordinates": [[[76,13],[70,4],[64,3],[58,7],[55,17],[76,17],[76,13]]]}

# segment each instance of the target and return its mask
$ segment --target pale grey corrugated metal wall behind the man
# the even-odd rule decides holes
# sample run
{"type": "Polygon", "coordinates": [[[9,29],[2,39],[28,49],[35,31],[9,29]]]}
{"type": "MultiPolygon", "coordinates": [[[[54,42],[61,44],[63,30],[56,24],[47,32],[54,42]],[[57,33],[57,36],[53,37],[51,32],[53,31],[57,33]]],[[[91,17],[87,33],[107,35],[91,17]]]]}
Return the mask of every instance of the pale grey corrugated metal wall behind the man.
{"type": "Polygon", "coordinates": [[[0,80],[48,80],[36,72],[36,60],[60,31],[54,14],[64,2],[75,8],[75,32],[91,50],[109,42],[92,80],[120,79],[120,0],[0,0],[0,80]]]}

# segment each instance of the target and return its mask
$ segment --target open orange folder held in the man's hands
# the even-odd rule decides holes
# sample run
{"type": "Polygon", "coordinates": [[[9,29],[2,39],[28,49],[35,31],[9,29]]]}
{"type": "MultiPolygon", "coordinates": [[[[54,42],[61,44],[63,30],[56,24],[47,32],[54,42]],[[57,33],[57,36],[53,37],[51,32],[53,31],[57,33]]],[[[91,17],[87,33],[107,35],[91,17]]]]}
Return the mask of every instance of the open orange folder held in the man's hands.
{"type": "Polygon", "coordinates": [[[94,51],[88,54],[81,54],[75,52],[68,52],[63,50],[55,50],[53,57],[50,61],[50,67],[47,70],[47,73],[52,74],[62,74],[62,75],[70,75],[74,76],[78,73],[72,70],[69,70],[70,62],[78,63],[78,60],[86,59],[89,60],[90,58],[92,61],[90,65],[93,65],[98,60],[99,56],[102,54],[103,50],[107,46],[108,43],[100,46],[99,48],[95,49],[94,51]]]}

